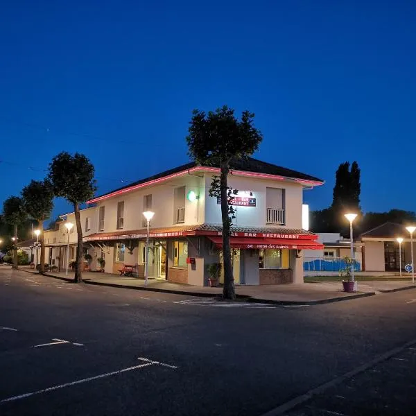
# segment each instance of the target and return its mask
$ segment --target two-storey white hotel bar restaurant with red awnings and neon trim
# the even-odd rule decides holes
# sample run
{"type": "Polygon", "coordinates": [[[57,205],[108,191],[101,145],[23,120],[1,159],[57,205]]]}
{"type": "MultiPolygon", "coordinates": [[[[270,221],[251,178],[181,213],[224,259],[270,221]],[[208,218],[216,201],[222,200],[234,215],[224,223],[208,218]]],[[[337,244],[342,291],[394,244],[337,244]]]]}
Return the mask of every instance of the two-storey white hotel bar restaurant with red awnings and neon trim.
{"type": "MultiPolygon", "coordinates": [[[[155,279],[207,285],[207,265],[221,261],[220,204],[209,196],[219,169],[195,162],[164,171],[88,201],[81,211],[84,250],[105,259],[105,272],[118,273],[124,265],[144,276],[146,220],[150,227],[149,276],[155,279]]],[[[229,175],[229,186],[239,193],[231,245],[236,284],[281,284],[303,281],[303,250],[322,249],[317,236],[302,229],[305,187],[323,181],[304,173],[249,158],[229,175]]],[[[45,232],[49,259],[64,268],[67,261],[65,221],[45,232]]],[[[75,257],[76,228],[70,239],[69,259],[75,257]]]]}

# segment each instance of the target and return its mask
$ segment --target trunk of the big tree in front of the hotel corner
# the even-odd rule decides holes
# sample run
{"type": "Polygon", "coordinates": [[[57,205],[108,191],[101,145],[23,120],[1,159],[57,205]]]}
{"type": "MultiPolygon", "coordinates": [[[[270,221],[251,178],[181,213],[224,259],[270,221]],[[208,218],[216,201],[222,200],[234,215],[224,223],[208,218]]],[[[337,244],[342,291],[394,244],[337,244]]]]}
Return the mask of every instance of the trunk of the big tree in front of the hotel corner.
{"type": "Polygon", "coordinates": [[[231,247],[229,244],[229,214],[228,214],[228,196],[227,196],[227,175],[228,164],[221,163],[220,173],[220,196],[221,196],[221,216],[223,218],[223,262],[224,262],[224,287],[223,299],[235,300],[234,275],[232,274],[231,247]]]}

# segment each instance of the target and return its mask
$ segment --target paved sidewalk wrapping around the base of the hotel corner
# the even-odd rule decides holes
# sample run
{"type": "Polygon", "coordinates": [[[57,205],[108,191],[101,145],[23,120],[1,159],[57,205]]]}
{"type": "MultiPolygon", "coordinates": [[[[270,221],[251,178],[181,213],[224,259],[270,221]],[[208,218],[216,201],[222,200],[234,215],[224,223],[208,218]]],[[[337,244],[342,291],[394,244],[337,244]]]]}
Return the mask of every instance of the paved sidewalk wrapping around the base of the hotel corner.
{"type": "MultiPolygon", "coordinates": [[[[22,268],[25,270],[25,268],[22,268]]],[[[32,271],[26,268],[27,271],[32,271]]],[[[73,272],[66,276],[64,272],[48,272],[47,275],[58,279],[73,279],[73,272]]],[[[166,280],[149,279],[148,286],[144,286],[144,279],[123,277],[100,272],[83,272],[86,284],[131,288],[143,291],[157,291],[180,295],[200,297],[220,296],[221,287],[209,288],[175,284],[166,280]]],[[[320,304],[337,302],[339,300],[354,299],[356,297],[371,296],[376,293],[416,288],[410,281],[358,281],[358,293],[345,293],[339,281],[324,281],[320,283],[285,284],[268,286],[236,286],[236,294],[241,300],[248,302],[269,302],[273,304],[320,304]]]]}

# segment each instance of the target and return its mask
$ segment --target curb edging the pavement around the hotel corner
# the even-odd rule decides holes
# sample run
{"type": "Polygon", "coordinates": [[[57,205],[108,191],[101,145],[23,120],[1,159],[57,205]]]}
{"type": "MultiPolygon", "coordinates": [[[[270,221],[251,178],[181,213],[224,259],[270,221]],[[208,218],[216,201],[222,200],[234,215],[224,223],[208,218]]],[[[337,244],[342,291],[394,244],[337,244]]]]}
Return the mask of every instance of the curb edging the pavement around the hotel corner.
{"type": "MultiPolygon", "coordinates": [[[[33,275],[39,275],[38,272],[31,272],[30,270],[23,270],[24,272],[32,273],[33,275]]],[[[68,277],[60,277],[54,275],[48,275],[45,273],[42,276],[52,277],[53,279],[63,280],[72,282],[73,279],[69,279],[68,277]]],[[[83,280],[84,284],[92,284],[94,286],[108,286],[112,288],[123,288],[123,289],[132,289],[135,291],[148,291],[148,292],[159,292],[159,293],[172,293],[173,295],[187,295],[187,296],[196,296],[196,297],[218,297],[218,293],[206,293],[206,292],[188,292],[188,291],[177,291],[170,289],[162,289],[162,288],[149,288],[144,286],[129,286],[124,284],[115,284],[115,283],[103,283],[101,281],[92,281],[89,279],[83,280]]],[[[415,286],[416,287],[416,286],[415,286]]],[[[366,292],[366,293],[358,293],[357,295],[351,296],[339,296],[339,297],[331,297],[329,299],[322,299],[322,300],[306,300],[304,302],[300,300],[270,300],[270,299],[259,299],[257,297],[251,297],[250,295],[238,295],[236,294],[236,298],[238,300],[245,300],[245,302],[250,303],[263,303],[263,304],[273,304],[273,305],[319,305],[319,304],[327,304],[333,302],[342,302],[344,300],[353,300],[358,299],[359,297],[368,297],[374,296],[375,292],[366,292]]]]}

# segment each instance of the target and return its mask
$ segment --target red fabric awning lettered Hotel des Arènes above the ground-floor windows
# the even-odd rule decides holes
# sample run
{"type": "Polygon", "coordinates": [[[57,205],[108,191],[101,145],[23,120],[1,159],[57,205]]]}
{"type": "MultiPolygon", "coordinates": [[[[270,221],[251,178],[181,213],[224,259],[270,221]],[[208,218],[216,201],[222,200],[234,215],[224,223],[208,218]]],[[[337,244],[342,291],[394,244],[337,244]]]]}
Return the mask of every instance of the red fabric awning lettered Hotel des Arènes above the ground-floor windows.
{"type": "MultiPolygon", "coordinates": [[[[223,246],[223,237],[208,237],[218,248],[223,246]]],[[[257,239],[250,237],[229,237],[232,248],[288,248],[289,250],[322,250],[323,244],[313,240],[257,239]]]]}

